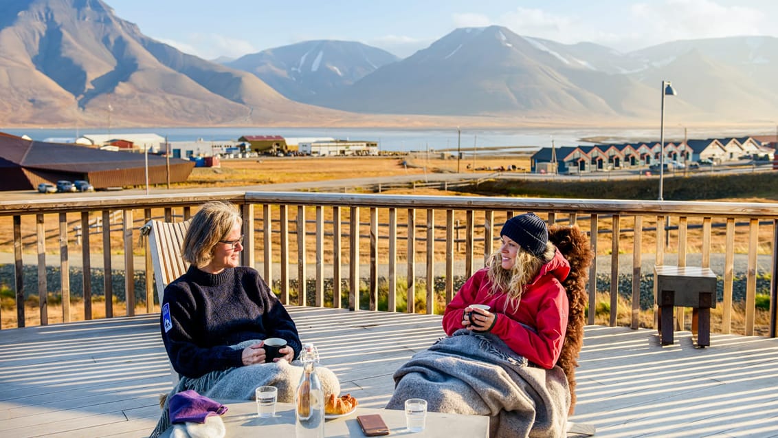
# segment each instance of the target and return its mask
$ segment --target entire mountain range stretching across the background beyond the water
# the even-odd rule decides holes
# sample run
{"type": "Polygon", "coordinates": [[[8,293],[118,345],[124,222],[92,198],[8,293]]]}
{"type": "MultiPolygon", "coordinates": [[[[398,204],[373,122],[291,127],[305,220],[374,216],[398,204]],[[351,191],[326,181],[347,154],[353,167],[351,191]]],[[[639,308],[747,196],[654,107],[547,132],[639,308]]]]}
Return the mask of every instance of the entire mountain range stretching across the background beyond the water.
{"type": "Polygon", "coordinates": [[[621,53],[500,26],[457,29],[398,60],[313,40],[206,61],[102,0],[0,2],[0,121],[12,126],[774,124],[778,38],[621,53]],[[220,64],[223,62],[226,64],[220,64]]]}

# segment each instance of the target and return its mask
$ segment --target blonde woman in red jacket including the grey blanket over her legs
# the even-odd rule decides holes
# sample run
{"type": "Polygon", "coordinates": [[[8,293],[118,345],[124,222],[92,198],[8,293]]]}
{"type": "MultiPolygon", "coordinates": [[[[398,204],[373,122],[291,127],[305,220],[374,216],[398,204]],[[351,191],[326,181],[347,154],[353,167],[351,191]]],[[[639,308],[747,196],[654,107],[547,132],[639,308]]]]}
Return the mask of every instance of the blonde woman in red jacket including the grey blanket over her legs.
{"type": "Polygon", "coordinates": [[[433,412],[488,415],[489,436],[564,436],[571,394],[555,366],[565,342],[570,265],[527,213],[506,221],[502,244],[443,314],[448,335],[394,373],[387,404],[423,398],[433,412]]]}

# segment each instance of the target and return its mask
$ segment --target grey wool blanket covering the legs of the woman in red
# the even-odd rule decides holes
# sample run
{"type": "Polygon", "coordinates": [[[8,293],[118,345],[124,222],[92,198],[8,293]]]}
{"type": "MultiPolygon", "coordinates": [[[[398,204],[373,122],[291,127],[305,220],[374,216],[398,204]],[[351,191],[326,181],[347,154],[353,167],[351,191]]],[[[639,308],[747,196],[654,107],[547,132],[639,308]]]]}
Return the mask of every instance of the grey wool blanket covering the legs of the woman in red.
{"type": "Polygon", "coordinates": [[[387,408],[423,398],[432,412],[489,416],[489,436],[565,436],[570,395],[559,367],[528,366],[498,337],[459,330],[394,373],[387,408]]]}

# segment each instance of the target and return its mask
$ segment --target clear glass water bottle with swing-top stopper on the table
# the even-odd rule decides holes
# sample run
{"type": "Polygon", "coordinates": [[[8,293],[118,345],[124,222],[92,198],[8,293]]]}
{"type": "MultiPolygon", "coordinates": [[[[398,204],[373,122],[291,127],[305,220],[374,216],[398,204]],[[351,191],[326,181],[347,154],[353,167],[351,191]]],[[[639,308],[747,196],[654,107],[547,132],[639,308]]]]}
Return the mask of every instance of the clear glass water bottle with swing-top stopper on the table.
{"type": "Polygon", "coordinates": [[[295,433],[297,438],[324,438],[324,390],[316,375],[319,354],[313,344],[303,345],[300,354],[303,377],[295,396],[295,433]]]}

